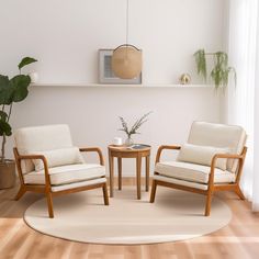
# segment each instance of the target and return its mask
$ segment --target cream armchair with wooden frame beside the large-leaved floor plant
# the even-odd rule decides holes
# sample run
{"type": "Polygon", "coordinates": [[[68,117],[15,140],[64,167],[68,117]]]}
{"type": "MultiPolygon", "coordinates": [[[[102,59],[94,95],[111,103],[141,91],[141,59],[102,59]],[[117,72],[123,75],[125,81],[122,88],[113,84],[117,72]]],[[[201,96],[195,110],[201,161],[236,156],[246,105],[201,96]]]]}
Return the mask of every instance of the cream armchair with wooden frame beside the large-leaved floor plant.
{"type": "Polygon", "coordinates": [[[67,125],[20,128],[14,134],[13,149],[20,190],[45,193],[49,217],[54,217],[53,196],[102,188],[104,204],[109,205],[105,168],[98,147],[72,146],[67,125]],[[100,164],[86,164],[81,153],[95,151],[100,164]]]}

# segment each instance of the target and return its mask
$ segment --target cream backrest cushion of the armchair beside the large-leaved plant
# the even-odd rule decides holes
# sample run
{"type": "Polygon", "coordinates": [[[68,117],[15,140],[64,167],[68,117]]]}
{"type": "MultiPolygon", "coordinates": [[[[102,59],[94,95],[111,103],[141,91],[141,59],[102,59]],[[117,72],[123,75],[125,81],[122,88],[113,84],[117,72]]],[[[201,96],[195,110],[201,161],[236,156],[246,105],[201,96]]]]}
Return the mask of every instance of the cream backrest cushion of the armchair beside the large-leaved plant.
{"type": "MultiPolygon", "coordinates": [[[[19,128],[14,142],[20,155],[44,155],[44,151],[72,148],[70,131],[65,124],[19,128]]],[[[32,160],[22,162],[24,173],[34,169],[32,160]]]]}

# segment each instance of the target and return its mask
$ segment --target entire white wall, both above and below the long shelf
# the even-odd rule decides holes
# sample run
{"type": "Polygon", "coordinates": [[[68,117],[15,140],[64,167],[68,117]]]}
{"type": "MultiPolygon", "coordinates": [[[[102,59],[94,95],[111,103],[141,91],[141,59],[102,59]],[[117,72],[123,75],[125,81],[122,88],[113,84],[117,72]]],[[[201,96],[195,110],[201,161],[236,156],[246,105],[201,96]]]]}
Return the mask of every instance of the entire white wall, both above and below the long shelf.
{"type": "MultiPolygon", "coordinates": [[[[13,75],[23,56],[38,63],[41,82],[97,82],[98,49],[125,42],[123,0],[1,1],[0,72],[13,75]]],[[[130,40],[144,50],[144,82],[176,83],[194,72],[200,47],[224,47],[224,0],[131,0],[130,40]]],[[[153,145],[183,143],[193,120],[221,122],[219,95],[210,88],[58,88],[31,87],[14,106],[14,128],[68,123],[75,143],[106,145],[117,132],[119,115],[130,122],[154,111],[136,140],[153,145]]],[[[12,142],[9,142],[11,154],[12,142]]],[[[125,172],[135,170],[126,162],[125,172]]]]}

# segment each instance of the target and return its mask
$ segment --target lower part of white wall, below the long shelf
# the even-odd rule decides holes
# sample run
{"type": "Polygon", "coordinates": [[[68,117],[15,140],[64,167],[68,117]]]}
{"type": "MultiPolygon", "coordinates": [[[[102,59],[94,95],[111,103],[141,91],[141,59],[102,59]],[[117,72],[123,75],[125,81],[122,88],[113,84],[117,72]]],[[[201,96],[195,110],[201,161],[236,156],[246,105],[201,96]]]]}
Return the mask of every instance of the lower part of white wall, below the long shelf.
{"type": "MultiPolygon", "coordinates": [[[[106,145],[125,138],[117,116],[132,124],[153,111],[134,140],[153,146],[154,164],[159,145],[185,142],[193,120],[219,122],[219,101],[212,88],[32,87],[26,102],[14,106],[13,126],[67,123],[76,145],[100,146],[108,162],[106,145]]],[[[125,161],[124,173],[134,171],[135,164],[125,161]]]]}

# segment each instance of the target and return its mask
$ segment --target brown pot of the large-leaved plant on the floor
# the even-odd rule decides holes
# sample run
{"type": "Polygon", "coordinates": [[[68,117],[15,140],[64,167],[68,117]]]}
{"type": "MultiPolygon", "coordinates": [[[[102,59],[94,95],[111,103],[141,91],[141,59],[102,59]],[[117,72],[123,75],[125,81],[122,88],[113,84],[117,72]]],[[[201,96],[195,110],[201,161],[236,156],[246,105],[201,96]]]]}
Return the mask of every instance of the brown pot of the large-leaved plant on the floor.
{"type": "Polygon", "coordinates": [[[15,162],[14,160],[4,160],[0,162],[0,189],[12,188],[15,184],[15,162]]]}

